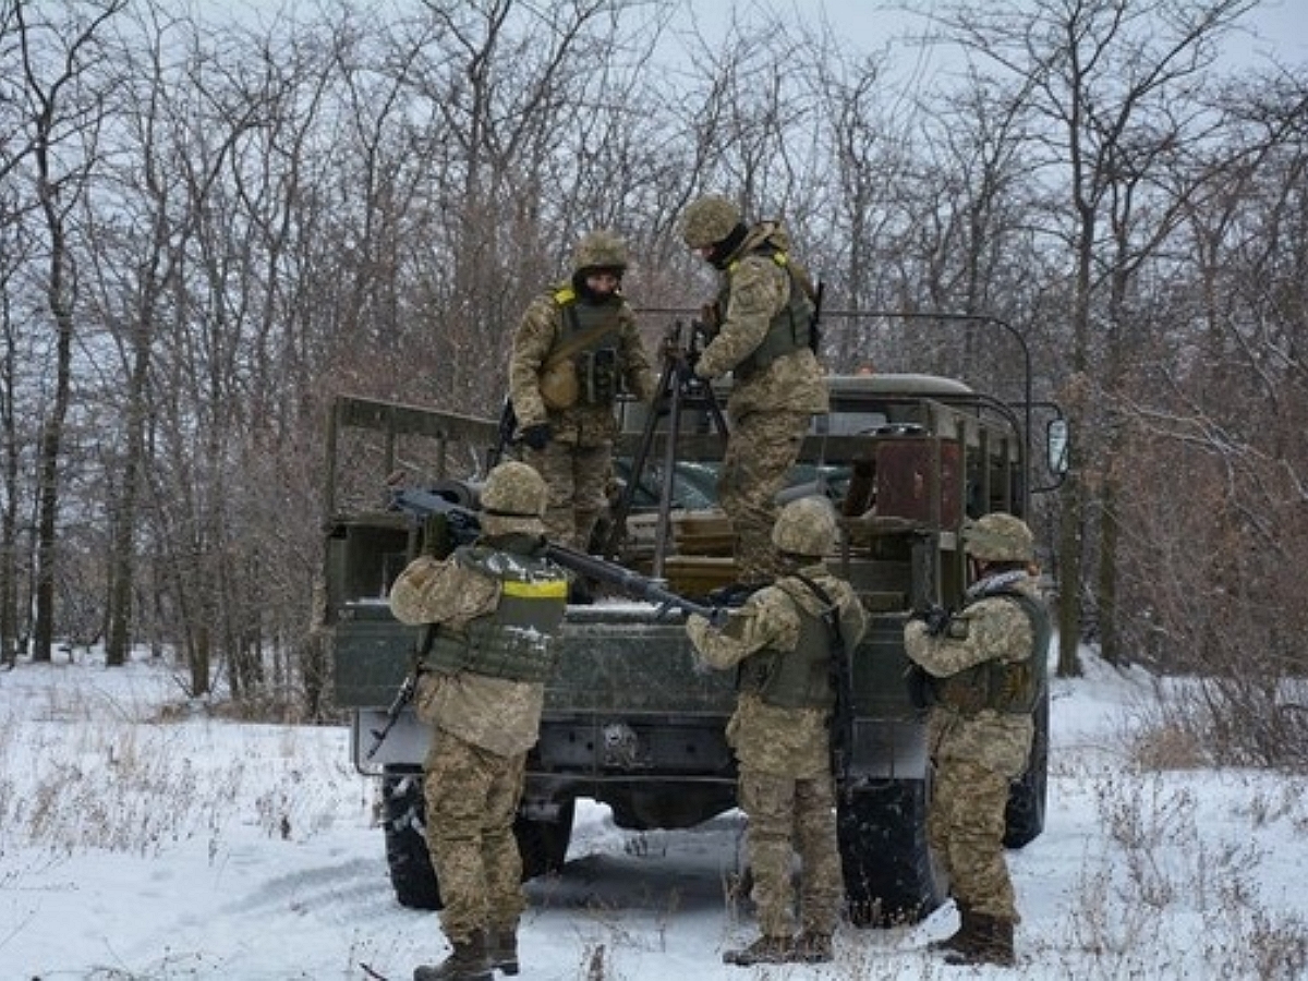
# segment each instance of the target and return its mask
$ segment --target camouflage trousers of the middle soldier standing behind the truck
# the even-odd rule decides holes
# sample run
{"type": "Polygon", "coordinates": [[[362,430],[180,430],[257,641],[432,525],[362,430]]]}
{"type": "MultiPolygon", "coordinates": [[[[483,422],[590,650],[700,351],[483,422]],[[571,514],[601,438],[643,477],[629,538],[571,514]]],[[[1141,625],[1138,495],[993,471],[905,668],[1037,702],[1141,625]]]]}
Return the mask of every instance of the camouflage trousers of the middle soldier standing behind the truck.
{"type": "Polygon", "coordinates": [[[795,780],[740,772],[740,808],[749,819],[751,899],[764,937],[795,931],[794,857],[800,862],[799,926],[836,931],[845,896],[836,840],[836,791],[829,774],[795,780]]]}

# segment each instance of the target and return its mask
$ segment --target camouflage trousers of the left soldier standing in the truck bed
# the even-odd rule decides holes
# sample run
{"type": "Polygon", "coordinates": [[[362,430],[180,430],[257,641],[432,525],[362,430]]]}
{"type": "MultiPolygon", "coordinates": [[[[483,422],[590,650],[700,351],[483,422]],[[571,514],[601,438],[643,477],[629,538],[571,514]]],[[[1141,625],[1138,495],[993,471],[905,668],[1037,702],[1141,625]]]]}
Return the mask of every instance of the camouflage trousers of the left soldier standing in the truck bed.
{"type": "Polygon", "coordinates": [[[545,538],[578,552],[590,551],[590,536],[608,509],[613,445],[577,446],[549,442],[543,450],[523,447],[522,462],[545,481],[545,538]]]}

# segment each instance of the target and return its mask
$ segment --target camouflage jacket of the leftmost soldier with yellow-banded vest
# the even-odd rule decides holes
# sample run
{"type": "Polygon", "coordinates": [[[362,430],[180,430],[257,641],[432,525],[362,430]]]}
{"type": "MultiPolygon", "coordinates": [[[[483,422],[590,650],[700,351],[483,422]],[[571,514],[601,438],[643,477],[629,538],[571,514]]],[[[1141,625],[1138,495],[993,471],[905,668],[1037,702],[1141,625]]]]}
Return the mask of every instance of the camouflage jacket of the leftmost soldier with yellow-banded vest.
{"type": "MultiPolygon", "coordinates": [[[[391,587],[391,611],[400,623],[439,623],[462,629],[493,611],[500,583],[453,559],[419,556],[391,587]]],[[[500,756],[515,756],[536,744],[545,685],[464,671],[422,674],[413,700],[417,717],[464,742],[500,756]]]]}

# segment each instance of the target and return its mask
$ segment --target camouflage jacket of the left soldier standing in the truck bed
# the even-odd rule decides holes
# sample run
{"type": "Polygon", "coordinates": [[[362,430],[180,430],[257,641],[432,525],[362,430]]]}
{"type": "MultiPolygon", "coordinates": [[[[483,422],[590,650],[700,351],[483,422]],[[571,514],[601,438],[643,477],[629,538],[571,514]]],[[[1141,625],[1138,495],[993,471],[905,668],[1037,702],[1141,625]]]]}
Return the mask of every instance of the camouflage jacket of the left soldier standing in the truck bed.
{"type": "MultiPolygon", "coordinates": [[[[549,354],[566,336],[566,309],[557,300],[566,284],[551,288],[536,297],[522,317],[513,337],[509,361],[509,398],[518,415],[519,426],[549,422],[553,438],[579,446],[598,446],[617,434],[612,405],[573,405],[551,411],[540,396],[540,370],[549,354]]],[[[581,302],[573,300],[570,302],[581,302]]],[[[658,377],[649,352],[636,326],[636,313],[621,296],[616,306],[617,373],[628,391],[641,402],[650,402],[658,390],[658,377]]]]}

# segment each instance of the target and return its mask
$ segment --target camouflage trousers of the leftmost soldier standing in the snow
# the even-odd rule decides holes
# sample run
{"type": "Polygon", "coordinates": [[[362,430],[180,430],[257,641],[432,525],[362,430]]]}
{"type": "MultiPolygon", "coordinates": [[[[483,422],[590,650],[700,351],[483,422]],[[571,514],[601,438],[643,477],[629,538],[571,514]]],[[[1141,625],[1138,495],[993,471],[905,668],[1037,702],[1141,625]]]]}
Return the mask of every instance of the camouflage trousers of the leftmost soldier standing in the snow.
{"type": "Polygon", "coordinates": [[[513,821],[526,753],[500,756],[434,730],[422,783],[426,846],[445,908],[441,927],[456,943],[518,922],[526,908],[513,821]]]}

